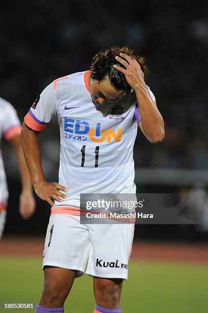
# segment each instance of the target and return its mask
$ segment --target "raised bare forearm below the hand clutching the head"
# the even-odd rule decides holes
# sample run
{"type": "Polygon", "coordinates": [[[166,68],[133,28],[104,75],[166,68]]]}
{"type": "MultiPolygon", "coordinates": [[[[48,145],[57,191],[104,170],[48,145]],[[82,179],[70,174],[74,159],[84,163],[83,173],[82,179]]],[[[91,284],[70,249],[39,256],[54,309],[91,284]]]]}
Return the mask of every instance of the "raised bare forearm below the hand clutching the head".
{"type": "Polygon", "coordinates": [[[164,121],[146,86],[140,86],[135,93],[146,137],[152,143],[162,141],[165,137],[164,121]]]}

